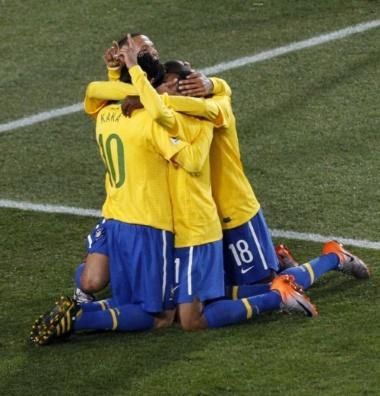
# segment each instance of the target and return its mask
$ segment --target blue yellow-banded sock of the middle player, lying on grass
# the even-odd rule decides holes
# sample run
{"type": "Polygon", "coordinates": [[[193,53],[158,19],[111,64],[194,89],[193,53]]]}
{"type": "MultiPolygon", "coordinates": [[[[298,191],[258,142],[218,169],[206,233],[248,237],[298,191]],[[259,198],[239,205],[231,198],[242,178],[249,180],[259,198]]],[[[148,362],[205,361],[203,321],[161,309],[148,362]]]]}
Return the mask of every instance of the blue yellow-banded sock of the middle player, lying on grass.
{"type": "Polygon", "coordinates": [[[242,322],[255,314],[280,308],[279,293],[270,291],[240,300],[220,300],[205,307],[208,327],[222,327],[242,322]]]}

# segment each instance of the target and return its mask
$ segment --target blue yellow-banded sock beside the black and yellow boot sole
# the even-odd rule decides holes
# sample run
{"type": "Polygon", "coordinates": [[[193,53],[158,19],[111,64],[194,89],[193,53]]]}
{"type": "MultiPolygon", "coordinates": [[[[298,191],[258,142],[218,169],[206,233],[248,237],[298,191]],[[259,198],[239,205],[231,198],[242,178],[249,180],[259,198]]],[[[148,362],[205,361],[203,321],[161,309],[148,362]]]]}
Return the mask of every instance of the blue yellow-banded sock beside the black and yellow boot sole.
{"type": "Polygon", "coordinates": [[[148,330],[154,326],[154,316],[139,305],[127,304],[105,311],[82,311],[74,321],[78,330],[148,330]]]}

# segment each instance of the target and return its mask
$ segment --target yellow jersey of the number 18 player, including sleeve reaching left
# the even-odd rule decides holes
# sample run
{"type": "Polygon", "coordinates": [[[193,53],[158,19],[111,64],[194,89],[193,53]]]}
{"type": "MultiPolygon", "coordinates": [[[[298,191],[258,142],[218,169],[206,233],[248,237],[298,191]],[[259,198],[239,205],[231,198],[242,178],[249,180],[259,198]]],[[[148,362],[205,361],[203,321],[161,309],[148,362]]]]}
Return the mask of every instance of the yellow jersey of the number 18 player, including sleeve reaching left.
{"type": "Polygon", "coordinates": [[[226,82],[212,78],[214,96],[209,99],[169,96],[166,103],[176,111],[204,117],[215,125],[210,151],[212,193],[223,229],[246,223],[260,209],[240,158],[231,90],[226,82]]]}

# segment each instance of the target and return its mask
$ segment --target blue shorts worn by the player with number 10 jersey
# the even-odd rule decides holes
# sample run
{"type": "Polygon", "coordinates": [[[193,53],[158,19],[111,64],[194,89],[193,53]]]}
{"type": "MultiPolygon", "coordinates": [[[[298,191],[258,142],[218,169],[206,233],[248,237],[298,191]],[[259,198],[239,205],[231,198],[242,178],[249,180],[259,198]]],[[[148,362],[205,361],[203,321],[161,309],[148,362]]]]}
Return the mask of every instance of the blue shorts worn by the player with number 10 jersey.
{"type": "Polygon", "coordinates": [[[138,304],[150,313],[173,309],[173,234],[117,220],[104,226],[113,303],[138,304]]]}

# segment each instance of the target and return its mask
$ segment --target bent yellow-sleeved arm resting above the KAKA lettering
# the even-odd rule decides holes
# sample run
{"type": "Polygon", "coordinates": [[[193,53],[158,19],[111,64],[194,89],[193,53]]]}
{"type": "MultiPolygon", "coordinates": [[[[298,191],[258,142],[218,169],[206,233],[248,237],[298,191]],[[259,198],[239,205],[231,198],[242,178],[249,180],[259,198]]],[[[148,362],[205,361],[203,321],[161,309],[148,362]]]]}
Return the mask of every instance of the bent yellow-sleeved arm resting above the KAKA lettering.
{"type": "Polygon", "coordinates": [[[96,116],[108,101],[122,100],[133,95],[136,95],[136,89],[131,84],[121,81],[93,81],[86,89],[84,110],[87,114],[96,116]]]}

